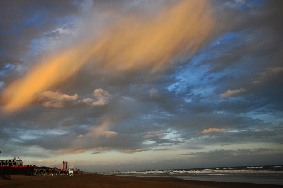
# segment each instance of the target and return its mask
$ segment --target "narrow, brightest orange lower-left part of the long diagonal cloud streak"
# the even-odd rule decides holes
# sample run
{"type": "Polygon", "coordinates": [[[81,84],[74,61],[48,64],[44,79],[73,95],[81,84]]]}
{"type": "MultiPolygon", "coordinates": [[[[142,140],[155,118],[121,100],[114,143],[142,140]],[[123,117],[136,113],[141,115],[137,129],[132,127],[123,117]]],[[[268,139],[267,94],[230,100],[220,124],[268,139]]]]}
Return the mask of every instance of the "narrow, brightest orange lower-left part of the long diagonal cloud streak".
{"type": "Polygon", "coordinates": [[[13,112],[34,103],[41,93],[62,83],[85,63],[83,48],[76,47],[45,60],[31,69],[24,78],[13,82],[3,92],[4,110],[13,112]]]}

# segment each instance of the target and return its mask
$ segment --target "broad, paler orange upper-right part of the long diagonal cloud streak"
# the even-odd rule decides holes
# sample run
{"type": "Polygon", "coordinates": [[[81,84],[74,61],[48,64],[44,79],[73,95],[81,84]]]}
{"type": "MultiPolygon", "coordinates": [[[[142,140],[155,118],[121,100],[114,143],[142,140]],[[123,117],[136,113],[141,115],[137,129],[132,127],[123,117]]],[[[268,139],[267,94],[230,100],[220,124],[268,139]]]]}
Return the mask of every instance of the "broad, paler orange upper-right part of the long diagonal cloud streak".
{"type": "Polygon", "coordinates": [[[115,70],[157,69],[185,52],[196,52],[212,34],[206,1],[181,1],[150,21],[127,16],[97,43],[94,57],[115,70]]]}

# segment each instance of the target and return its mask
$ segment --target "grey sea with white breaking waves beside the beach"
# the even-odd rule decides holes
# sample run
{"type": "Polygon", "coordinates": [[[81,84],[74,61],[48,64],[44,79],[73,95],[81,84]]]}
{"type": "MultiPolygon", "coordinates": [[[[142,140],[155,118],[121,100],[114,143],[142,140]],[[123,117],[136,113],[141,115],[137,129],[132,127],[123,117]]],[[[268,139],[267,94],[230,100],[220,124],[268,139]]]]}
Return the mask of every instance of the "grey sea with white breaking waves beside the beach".
{"type": "Polygon", "coordinates": [[[283,165],[128,171],[107,174],[283,185],[283,165]]]}

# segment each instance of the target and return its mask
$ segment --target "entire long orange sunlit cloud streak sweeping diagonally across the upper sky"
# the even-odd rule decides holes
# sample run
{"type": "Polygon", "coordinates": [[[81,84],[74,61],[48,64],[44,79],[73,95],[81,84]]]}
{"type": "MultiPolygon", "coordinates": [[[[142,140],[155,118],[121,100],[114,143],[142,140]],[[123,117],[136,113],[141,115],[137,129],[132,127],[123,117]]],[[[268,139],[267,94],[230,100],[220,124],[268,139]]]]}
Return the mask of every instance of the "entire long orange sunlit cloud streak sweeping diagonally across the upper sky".
{"type": "Polygon", "coordinates": [[[206,1],[182,1],[164,8],[152,20],[135,15],[121,18],[97,38],[87,36],[11,83],[1,96],[3,109],[14,112],[35,104],[41,93],[56,89],[89,61],[112,71],[156,70],[185,53],[195,53],[213,34],[213,26],[206,1]]]}

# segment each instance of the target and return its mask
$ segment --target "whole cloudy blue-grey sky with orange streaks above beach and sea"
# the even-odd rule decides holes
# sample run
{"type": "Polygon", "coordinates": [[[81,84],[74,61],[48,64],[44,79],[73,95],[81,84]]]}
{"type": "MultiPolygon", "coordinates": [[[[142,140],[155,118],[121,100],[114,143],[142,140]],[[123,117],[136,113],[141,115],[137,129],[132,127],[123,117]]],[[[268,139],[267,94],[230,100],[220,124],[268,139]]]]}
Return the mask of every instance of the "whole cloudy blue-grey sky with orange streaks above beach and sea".
{"type": "Polygon", "coordinates": [[[1,0],[0,158],[89,172],[282,165],[282,8],[1,0]]]}

